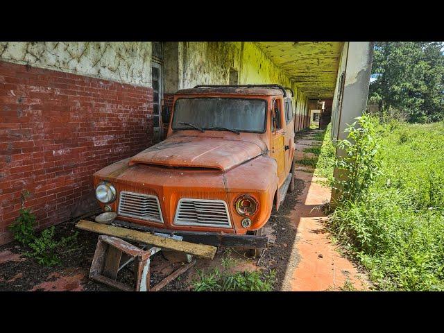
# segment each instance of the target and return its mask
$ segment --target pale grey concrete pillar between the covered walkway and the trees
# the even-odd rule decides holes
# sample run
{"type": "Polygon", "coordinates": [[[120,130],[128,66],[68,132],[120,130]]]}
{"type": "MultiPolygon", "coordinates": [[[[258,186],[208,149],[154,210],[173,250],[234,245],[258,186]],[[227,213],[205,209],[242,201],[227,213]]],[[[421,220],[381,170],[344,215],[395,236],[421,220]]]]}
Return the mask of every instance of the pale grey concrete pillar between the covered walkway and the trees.
{"type": "MultiPolygon", "coordinates": [[[[332,114],[332,139],[345,139],[344,133],[347,124],[353,123],[366,110],[368,87],[373,60],[373,42],[348,42],[344,44],[341,65],[338,70],[334,100],[336,114],[332,114]],[[344,58],[345,56],[345,58],[344,58]],[[343,82],[342,82],[343,81],[343,82]],[[340,96],[337,96],[340,94],[340,96]]],[[[336,155],[342,156],[343,151],[337,149],[336,155]]],[[[337,169],[334,169],[334,178],[343,178],[337,169]]],[[[332,191],[332,203],[339,197],[339,193],[332,191]]]]}

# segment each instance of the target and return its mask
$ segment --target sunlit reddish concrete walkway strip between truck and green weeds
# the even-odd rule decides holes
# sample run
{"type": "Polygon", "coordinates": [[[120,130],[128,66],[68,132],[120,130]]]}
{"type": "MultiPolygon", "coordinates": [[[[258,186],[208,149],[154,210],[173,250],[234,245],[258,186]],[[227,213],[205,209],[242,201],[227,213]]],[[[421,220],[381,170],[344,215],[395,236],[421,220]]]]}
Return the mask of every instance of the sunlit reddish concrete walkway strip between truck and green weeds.
{"type": "MultiPolygon", "coordinates": [[[[297,140],[296,160],[313,157],[312,154],[304,153],[303,149],[321,144],[311,139],[316,132],[311,130],[297,140]]],[[[296,166],[296,178],[303,180],[305,187],[290,214],[291,222],[297,230],[293,252],[298,257],[298,264],[291,276],[286,277],[290,282],[289,290],[368,289],[366,275],[339,253],[339,248],[332,243],[331,235],[325,228],[327,217],[321,207],[330,202],[330,187],[316,182],[321,179],[314,177],[310,171],[312,168],[300,164],[296,166]]]]}

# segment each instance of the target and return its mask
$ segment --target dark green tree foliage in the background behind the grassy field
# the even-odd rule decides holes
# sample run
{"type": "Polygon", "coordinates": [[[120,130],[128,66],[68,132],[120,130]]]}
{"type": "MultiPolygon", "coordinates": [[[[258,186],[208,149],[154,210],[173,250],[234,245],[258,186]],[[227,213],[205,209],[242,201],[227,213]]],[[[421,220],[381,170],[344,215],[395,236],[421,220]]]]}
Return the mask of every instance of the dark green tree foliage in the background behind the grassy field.
{"type": "Polygon", "coordinates": [[[376,42],[369,103],[409,122],[444,119],[443,42],[376,42]]]}

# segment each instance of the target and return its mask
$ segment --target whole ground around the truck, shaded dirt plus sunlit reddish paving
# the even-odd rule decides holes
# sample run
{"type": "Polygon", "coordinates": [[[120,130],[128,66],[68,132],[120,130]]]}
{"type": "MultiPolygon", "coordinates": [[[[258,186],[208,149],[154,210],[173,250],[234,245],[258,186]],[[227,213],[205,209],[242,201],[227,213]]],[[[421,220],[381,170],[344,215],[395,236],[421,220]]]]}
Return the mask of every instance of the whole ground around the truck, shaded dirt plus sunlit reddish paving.
{"type": "MultiPolygon", "coordinates": [[[[304,155],[303,148],[321,144],[312,139],[314,133],[316,130],[296,137],[296,159],[304,155]]],[[[312,169],[296,167],[295,191],[287,194],[279,212],[273,210],[264,230],[274,245],[266,248],[259,258],[247,257],[246,250],[230,249],[230,256],[235,260],[232,270],[273,269],[276,271],[275,291],[344,290],[344,285],[352,290],[368,289],[365,274],[332,244],[325,231],[325,216],[316,209],[330,199],[330,189],[314,182],[312,169]]],[[[0,291],[115,291],[88,278],[98,236],[77,230],[74,227],[77,221],[56,226],[56,239],[78,231],[74,247],[59,253],[61,264],[58,266],[41,266],[35,259],[21,255],[26,249],[16,241],[1,246],[0,291]]],[[[197,278],[196,272],[221,266],[223,255],[227,255],[226,248],[219,248],[213,260],[197,259],[194,267],[162,291],[190,291],[191,282],[197,278]]],[[[180,265],[182,263],[168,261],[162,253],[154,255],[151,285],[160,282],[180,265]]],[[[123,268],[118,275],[119,281],[130,282],[133,279],[131,269],[131,264],[123,268]]]]}

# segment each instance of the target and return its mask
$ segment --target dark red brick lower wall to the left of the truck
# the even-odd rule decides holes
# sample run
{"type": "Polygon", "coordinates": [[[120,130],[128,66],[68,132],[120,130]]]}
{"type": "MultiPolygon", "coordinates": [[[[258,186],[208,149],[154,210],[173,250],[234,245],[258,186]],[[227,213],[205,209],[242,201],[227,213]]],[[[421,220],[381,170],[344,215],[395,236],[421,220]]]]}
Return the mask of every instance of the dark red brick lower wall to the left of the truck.
{"type": "Polygon", "coordinates": [[[40,228],[94,209],[92,174],[152,144],[152,113],[151,88],[0,62],[0,244],[24,189],[40,228]]]}

